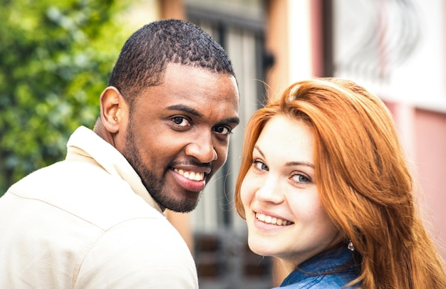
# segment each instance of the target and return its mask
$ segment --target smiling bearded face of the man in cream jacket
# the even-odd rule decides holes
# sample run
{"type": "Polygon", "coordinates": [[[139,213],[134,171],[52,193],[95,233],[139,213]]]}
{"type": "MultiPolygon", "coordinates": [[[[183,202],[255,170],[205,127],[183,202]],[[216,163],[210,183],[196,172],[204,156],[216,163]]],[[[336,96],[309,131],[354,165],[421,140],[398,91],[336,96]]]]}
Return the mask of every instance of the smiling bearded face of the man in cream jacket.
{"type": "Polygon", "coordinates": [[[171,63],[136,100],[117,148],[160,206],[192,211],[226,162],[238,110],[232,75],[171,63]]]}

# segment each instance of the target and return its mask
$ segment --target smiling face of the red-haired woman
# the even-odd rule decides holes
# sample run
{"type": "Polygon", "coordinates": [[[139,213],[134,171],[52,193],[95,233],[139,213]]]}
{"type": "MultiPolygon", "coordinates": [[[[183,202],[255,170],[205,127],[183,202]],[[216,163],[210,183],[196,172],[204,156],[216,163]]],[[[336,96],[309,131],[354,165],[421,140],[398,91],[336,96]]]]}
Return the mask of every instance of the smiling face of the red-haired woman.
{"type": "Polygon", "coordinates": [[[341,239],[321,204],[313,164],[311,128],[276,116],[262,130],[241,186],[249,248],[281,258],[290,270],[341,239]]]}

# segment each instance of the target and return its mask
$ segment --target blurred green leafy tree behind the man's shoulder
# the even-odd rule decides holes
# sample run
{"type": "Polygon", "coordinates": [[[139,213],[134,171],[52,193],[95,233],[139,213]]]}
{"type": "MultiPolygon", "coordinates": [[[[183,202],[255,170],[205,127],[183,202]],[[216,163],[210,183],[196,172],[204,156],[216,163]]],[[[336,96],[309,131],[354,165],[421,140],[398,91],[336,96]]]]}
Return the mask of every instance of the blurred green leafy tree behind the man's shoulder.
{"type": "Polygon", "coordinates": [[[0,0],[0,196],[93,127],[126,37],[123,2],[0,0]]]}

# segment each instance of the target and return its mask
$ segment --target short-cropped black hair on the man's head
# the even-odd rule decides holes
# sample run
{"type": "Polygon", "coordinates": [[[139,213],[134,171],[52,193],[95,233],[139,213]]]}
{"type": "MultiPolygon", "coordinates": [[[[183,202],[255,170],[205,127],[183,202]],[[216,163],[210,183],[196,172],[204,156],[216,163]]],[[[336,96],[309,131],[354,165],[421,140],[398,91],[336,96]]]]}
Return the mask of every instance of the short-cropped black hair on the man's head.
{"type": "Polygon", "coordinates": [[[125,41],[108,85],[132,105],[142,90],[162,82],[167,63],[235,77],[226,51],[208,33],[193,23],[168,19],[142,26],[125,41]]]}

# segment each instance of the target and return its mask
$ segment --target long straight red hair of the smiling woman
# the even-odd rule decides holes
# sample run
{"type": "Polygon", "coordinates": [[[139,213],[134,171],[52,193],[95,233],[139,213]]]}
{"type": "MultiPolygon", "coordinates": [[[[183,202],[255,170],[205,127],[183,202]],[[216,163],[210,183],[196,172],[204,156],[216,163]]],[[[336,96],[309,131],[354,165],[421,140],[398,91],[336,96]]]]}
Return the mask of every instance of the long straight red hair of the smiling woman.
{"type": "Polygon", "coordinates": [[[422,225],[390,112],[351,81],[294,83],[252,115],[235,189],[237,213],[245,217],[240,187],[254,144],[275,115],[313,128],[316,186],[333,223],[361,254],[356,281],[363,288],[446,288],[445,266],[422,225]]]}

